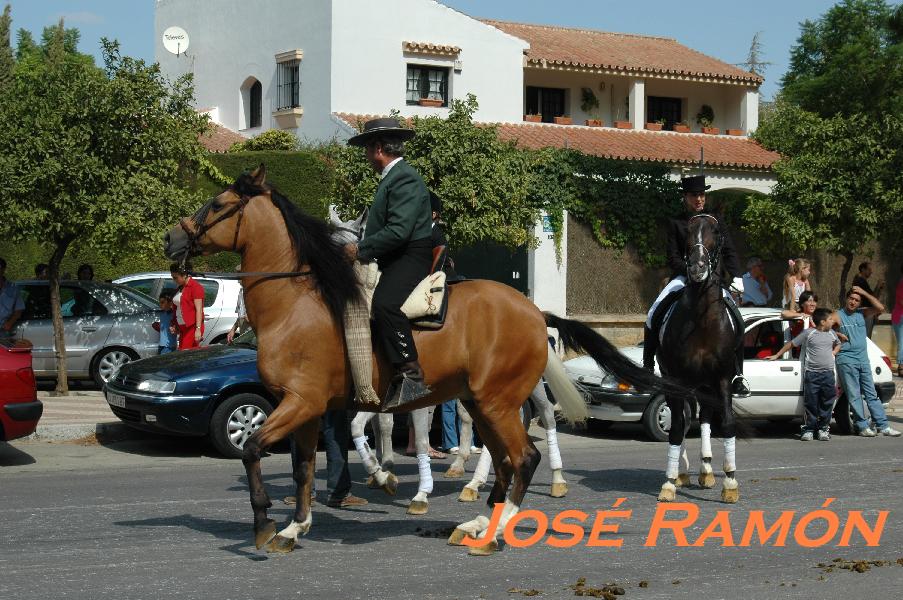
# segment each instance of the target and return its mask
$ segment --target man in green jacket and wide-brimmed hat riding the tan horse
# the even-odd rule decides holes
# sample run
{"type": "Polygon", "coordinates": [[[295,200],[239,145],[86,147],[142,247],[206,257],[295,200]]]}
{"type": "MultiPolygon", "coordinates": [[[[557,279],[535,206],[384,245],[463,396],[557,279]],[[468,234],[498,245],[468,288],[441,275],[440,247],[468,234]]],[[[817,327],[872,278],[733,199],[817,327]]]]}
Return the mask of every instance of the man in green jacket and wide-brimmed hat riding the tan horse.
{"type": "Polygon", "coordinates": [[[413,402],[430,393],[417,360],[411,324],[401,305],[429,274],[432,262],[430,193],[423,179],[404,161],[404,142],[414,137],[397,119],[373,119],[348,140],[363,147],[380,174],[367,216],[364,239],[346,248],[361,261],[376,260],[382,272],[373,293],[376,337],[395,368],[385,408],[413,402]]]}

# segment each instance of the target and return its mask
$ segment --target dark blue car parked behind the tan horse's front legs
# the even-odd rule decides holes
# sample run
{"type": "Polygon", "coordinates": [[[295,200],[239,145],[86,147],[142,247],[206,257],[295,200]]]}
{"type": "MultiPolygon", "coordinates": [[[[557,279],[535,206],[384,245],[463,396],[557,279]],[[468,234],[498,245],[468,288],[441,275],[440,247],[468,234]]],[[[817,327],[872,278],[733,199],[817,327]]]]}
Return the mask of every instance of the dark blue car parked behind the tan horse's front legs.
{"type": "Polygon", "coordinates": [[[144,431],[207,436],[230,458],[276,406],[257,373],[253,331],[229,346],[210,346],[137,360],[106,383],[110,409],[144,431]]]}

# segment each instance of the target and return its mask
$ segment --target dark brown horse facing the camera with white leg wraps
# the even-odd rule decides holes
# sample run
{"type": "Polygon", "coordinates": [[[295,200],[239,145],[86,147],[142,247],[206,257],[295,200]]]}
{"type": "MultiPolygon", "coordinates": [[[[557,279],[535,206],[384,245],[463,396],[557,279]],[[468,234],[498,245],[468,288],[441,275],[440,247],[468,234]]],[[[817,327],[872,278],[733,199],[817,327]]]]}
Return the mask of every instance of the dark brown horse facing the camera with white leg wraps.
{"type": "MultiPolygon", "coordinates": [[[[718,222],[712,215],[700,214],[691,218],[687,231],[687,287],[674,303],[662,333],[658,363],[663,375],[671,375],[700,389],[697,396],[702,444],[699,485],[704,488],[715,485],[712,420],[716,417],[720,421],[724,436],[721,498],[733,503],[740,498],[740,488],[735,478],[737,423],[731,406],[731,380],[736,372],[736,340],[742,332],[735,331],[737,325],[733,324],[723,299],[718,272],[720,236],[718,222]]],[[[658,499],[671,502],[676,488],[690,482],[683,442],[690,428],[692,411],[683,399],[667,396],[666,401],[671,409],[667,481],[662,485],[658,499]],[[681,462],[683,469],[679,465],[681,462]]]]}

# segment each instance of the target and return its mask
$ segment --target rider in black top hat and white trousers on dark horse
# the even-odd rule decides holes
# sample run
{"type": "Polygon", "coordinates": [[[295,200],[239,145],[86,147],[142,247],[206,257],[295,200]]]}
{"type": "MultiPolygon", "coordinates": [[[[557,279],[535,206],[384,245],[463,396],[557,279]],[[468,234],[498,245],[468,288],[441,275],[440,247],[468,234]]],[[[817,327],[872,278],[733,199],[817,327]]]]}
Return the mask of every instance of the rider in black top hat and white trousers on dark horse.
{"type": "MultiPolygon", "coordinates": [[[[681,291],[687,285],[687,229],[689,228],[689,218],[705,213],[705,191],[711,186],[705,184],[705,175],[694,175],[693,177],[684,177],[680,181],[681,188],[684,192],[684,206],[687,214],[683,217],[671,219],[668,222],[668,241],[665,249],[668,267],[671,269],[671,281],[665,286],[652,303],[649,313],[646,316],[646,326],[643,330],[643,367],[652,371],[655,367],[655,353],[658,350],[659,328],[664,317],[665,311],[668,310],[674,301],[680,296],[681,291]]],[[[734,242],[731,239],[730,232],[727,227],[722,225],[720,221],[718,229],[721,233],[721,268],[727,277],[722,278],[722,282],[730,285],[734,277],[739,277],[743,271],[740,269],[740,259],[737,251],[734,249],[734,242]]],[[[743,317],[737,305],[727,291],[724,291],[725,305],[731,311],[734,319],[735,327],[743,330],[743,317]]],[[[735,396],[749,396],[749,383],[743,377],[743,344],[737,347],[737,376],[734,377],[731,392],[735,396]]]]}

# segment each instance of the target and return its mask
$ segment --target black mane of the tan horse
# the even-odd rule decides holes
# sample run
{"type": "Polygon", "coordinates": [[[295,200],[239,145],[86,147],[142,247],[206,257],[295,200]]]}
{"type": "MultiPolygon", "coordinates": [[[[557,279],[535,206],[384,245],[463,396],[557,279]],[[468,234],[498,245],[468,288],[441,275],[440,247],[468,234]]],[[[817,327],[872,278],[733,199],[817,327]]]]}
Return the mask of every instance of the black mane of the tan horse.
{"type": "Polygon", "coordinates": [[[336,323],[342,323],[345,305],[360,297],[360,288],[344,248],[332,239],[332,227],[322,219],[311,216],[271,185],[258,185],[247,173],[239,175],[232,189],[240,196],[259,196],[269,193],[270,199],[285,220],[289,239],[295,249],[295,269],[307,265],[314,275],[314,283],[336,323]]]}

